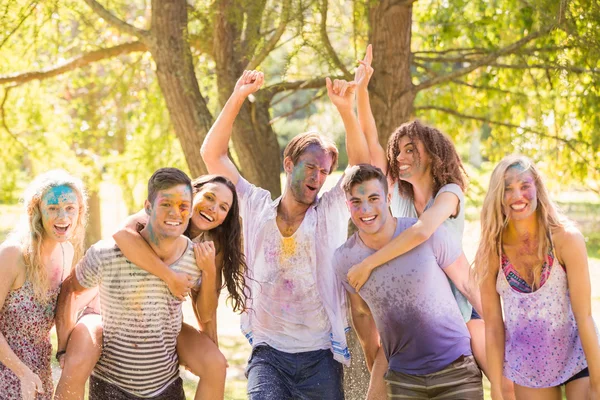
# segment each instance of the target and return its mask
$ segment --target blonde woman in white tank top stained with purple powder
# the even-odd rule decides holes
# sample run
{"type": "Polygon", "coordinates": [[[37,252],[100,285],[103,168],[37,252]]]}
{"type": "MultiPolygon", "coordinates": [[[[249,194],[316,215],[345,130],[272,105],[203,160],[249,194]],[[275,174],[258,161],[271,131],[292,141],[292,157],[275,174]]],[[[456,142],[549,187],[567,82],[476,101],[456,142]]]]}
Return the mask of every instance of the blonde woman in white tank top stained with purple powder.
{"type": "Polygon", "coordinates": [[[481,212],[475,272],[481,285],[492,399],[598,399],[600,346],[585,241],[561,215],[533,163],[505,157],[481,212]],[[504,318],[502,307],[504,307],[504,318]]]}

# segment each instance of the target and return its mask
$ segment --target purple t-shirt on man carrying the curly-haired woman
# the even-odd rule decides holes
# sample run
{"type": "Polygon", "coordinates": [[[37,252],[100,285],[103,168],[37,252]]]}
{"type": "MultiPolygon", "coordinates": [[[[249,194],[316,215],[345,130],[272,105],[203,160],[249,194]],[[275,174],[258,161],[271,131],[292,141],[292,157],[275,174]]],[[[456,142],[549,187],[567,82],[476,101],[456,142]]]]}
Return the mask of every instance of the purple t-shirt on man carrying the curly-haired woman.
{"type": "MultiPolygon", "coordinates": [[[[417,220],[397,221],[394,237],[417,220]]],[[[356,293],[348,270],[373,253],[358,232],[336,250],[334,267],[348,292],[356,293]]],[[[421,245],[375,269],[361,288],[392,371],[431,374],[471,355],[469,331],[443,271],[461,253],[442,225],[421,245]]]]}

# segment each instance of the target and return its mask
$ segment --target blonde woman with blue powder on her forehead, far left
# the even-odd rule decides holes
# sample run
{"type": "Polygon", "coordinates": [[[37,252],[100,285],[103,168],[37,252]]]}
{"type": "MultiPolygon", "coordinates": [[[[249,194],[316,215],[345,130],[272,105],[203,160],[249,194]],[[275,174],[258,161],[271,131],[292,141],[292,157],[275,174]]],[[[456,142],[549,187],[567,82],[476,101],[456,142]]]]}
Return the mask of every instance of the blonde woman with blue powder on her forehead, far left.
{"type": "Polygon", "coordinates": [[[62,170],[25,191],[26,222],[0,248],[0,398],[51,399],[50,329],[61,282],[83,251],[86,195],[62,170]]]}

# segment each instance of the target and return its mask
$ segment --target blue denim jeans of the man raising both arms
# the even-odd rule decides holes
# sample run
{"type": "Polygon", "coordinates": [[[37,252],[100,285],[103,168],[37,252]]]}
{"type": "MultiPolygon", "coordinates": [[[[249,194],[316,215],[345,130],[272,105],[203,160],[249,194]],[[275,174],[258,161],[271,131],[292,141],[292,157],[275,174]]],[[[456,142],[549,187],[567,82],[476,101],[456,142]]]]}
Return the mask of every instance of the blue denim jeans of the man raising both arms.
{"type": "Polygon", "coordinates": [[[329,350],[285,353],[261,344],[246,377],[249,400],[344,400],[343,367],[329,350]]]}

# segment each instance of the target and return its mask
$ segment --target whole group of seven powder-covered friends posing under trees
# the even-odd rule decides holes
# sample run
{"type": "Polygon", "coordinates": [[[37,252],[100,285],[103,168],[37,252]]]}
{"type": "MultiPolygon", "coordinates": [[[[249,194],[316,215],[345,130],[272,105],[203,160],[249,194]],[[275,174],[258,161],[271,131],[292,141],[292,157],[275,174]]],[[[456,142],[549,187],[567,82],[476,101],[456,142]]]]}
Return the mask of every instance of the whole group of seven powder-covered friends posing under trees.
{"type": "Polygon", "coordinates": [[[319,133],[285,148],[276,200],[229,158],[258,71],[243,73],[202,145],[212,175],[157,170],[144,209],[85,255],[81,181],[38,176],[26,221],[0,248],[0,398],[83,399],[89,380],[90,400],[184,399],[182,365],[200,377],[195,399],[222,399],[227,288],[252,345],[251,400],[343,399],[348,309],[368,399],[482,399],[481,371],[494,400],[558,400],[563,386],[569,400],[600,399],[585,241],[535,165],[511,155],[495,167],[471,268],[460,157],[419,121],[379,144],[371,61],[369,46],[354,81],[327,79],[350,166],[320,196],[338,150],[319,133]],[[200,330],[183,321],[187,296],[200,330]]]}

